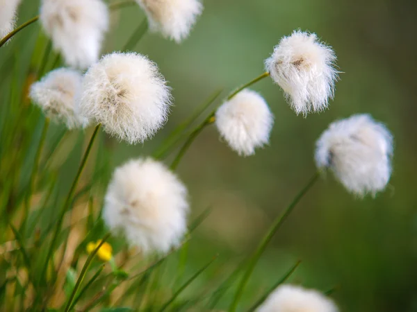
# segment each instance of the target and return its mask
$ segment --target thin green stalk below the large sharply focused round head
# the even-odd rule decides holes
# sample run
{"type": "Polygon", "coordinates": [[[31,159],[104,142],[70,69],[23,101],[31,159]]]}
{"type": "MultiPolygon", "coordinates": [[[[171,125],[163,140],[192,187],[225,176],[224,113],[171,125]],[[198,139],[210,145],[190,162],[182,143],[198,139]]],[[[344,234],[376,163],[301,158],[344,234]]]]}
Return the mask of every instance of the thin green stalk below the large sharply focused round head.
{"type": "Polygon", "coordinates": [[[41,277],[44,277],[45,273],[47,272],[49,259],[51,259],[51,256],[52,256],[52,254],[54,252],[54,249],[56,247],[56,243],[57,243],[57,240],[58,240],[58,234],[60,233],[60,228],[63,225],[63,219],[64,219],[64,216],[65,216],[65,213],[70,208],[70,204],[72,203],[72,196],[74,196],[76,186],[79,182],[79,178],[81,177],[81,173],[83,172],[83,168],[85,167],[85,163],[87,162],[88,155],[90,155],[90,151],[91,151],[92,145],[94,144],[95,138],[97,137],[97,132],[99,132],[100,125],[101,125],[100,123],[98,125],[96,125],[94,132],[92,132],[90,142],[88,143],[87,149],[85,150],[83,159],[81,159],[81,164],[79,165],[79,169],[76,173],[76,176],[74,177],[74,181],[72,182],[71,189],[68,192],[67,198],[64,202],[64,205],[63,205],[62,209],[60,210],[60,214],[58,216],[58,220],[57,220],[56,227],[55,227],[54,236],[52,236],[51,245],[49,246],[49,250],[48,250],[48,253],[47,253],[47,259],[45,260],[45,264],[44,264],[44,267],[42,269],[42,274],[40,275],[41,277]]]}

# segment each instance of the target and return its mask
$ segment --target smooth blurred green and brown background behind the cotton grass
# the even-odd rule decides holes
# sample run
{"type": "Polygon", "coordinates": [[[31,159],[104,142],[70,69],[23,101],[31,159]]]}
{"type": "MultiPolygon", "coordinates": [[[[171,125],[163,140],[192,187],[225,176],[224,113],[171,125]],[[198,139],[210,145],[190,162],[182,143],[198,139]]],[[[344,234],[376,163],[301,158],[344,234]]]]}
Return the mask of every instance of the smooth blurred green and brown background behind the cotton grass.
{"type": "MultiPolygon", "coordinates": [[[[213,209],[190,241],[187,270],[195,272],[216,252],[224,266],[210,274],[217,278],[234,268],[315,172],[314,144],[327,125],[351,114],[370,113],[386,123],[395,138],[389,187],[376,198],[360,200],[332,175],[320,180],[263,255],[243,306],[301,259],[291,281],[322,291],[337,286],[332,297],[341,311],[417,311],[417,2],[206,0],[204,7],[182,44],[147,34],[136,46],[135,51],[149,55],[160,67],[172,87],[175,105],[165,128],[145,144],[127,146],[101,134],[106,148],[112,150],[101,159],[108,169],[103,186],[115,166],[131,157],[150,155],[215,89],[224,87],[225,96],[262,73],[263,60],[282,36],[296,28],[317,33],[333,46],[343,72],[329,110],[306,119],[295,115],[279,87],[267,78],[252,88],[263,94],[275,114],[270,146],[253,157],[239,157],[211,127],[183,158],[178,172],[188,185],[191,218],[206,207],[213,209]]],[[[24,0],[18,24],[33,17],[37,8],[38,1],[24,0]]],[[[144,17],[136,6],[111,16],[107,53],[120,49],[144,17]]],[[[30,61],[37,28],[38,24],[22,31],[1,50],[0,66],[13,53],[22,59],[27,54],[30,61]]],[[[5,75],[1,71],[0,80],[5,75]]],[[[5,94],[6,87],[1,86],[0,92],[5,94]]],[[[74,174],[81,150],[79,144],[60,168],[64,187],[70,183],[68,175],[74,174]]],[[[194,285],[209,284],[211,278],[207,275],[194,285]]],[[[227,309],[232,293],[220,309],[227,309]]]]}

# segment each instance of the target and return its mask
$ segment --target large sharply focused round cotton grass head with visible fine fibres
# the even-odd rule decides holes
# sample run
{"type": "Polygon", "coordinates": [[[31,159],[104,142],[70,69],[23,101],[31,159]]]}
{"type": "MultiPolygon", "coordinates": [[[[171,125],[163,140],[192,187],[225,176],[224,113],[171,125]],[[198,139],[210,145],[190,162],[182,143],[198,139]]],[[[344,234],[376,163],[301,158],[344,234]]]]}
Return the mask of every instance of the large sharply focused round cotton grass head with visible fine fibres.
{"type": "Polygon", "coordinates": [[[85,73],[79,112],[110,135],[134,144],[162,127],[170,98],[154,62],[138,53],[112,53],[85,73]]]}

